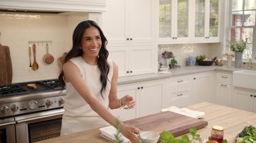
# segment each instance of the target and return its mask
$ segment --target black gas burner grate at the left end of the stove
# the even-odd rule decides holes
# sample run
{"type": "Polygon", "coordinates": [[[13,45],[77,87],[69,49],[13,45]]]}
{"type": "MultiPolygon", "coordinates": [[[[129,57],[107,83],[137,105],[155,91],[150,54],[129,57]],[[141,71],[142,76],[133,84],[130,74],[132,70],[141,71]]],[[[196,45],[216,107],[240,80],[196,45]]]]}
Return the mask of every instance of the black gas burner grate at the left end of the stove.
{"type": "Polygon", "coordinates": [[[0,86],[0,97],[13,96],[13,95],[23,95],[30,93],[30,91],[25,90],[19,85],[1,85],[0,86]]]}

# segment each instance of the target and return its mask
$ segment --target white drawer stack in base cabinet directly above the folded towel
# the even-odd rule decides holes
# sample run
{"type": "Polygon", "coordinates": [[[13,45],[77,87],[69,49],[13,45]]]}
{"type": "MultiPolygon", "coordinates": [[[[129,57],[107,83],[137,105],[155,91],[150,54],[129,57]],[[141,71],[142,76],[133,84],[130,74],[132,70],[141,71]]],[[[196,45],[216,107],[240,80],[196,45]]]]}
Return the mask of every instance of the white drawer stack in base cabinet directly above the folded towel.
{"type": "Polygon", "coordinates": [[[181,75],[167,79],[164,107],[184,107],[190,104],[191,75],[181,75]]]}

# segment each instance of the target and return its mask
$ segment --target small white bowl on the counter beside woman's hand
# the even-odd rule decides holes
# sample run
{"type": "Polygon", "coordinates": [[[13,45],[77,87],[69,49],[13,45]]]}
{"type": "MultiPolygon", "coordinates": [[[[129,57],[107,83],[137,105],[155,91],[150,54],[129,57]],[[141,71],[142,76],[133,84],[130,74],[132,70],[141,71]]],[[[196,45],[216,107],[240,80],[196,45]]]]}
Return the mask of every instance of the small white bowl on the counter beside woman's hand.
{"type": "Polygon", "coordinates": [[[143,143],[157,143],[160,135],[155,131],[141,131],[139,137],[141,137],[143,143]]]}

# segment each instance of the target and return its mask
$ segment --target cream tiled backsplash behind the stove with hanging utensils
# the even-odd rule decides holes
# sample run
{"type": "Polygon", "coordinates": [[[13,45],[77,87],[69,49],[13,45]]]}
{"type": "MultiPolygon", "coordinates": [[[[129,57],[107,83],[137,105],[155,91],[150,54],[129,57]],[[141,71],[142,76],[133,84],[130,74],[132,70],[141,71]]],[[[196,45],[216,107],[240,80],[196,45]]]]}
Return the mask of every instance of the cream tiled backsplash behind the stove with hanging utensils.
{"type": "MultiPolygon", "coordinates": [[[[0,43],[10,48],[12,83],[57,78],[60,67],[57,59],[72,47],[75,26],[88,19],[88,14],[0,14],[0,43]],[[52,64],[43,62],[46,44],[36,44],[37,71],[29,71],[28,41],[52,41],[49,53],[52,64]]],[[[32,51],[32,50],[31,50],[32,51]]],[[[33,63],[33,52],[31,55],[33,63]]]]}

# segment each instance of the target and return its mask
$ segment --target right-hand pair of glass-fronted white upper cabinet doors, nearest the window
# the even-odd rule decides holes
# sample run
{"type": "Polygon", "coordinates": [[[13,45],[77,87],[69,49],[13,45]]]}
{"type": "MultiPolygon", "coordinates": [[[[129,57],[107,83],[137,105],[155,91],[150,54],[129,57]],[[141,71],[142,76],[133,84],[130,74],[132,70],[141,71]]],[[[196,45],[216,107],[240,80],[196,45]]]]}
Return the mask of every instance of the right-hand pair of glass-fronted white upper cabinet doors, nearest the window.
{"type": "Polygon", "coordinates": [[[194,0],[191,2],[194,12],[192,41],[220,42],[220,2],[218,0],[194,0]]]}

